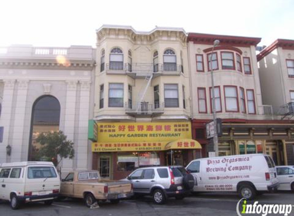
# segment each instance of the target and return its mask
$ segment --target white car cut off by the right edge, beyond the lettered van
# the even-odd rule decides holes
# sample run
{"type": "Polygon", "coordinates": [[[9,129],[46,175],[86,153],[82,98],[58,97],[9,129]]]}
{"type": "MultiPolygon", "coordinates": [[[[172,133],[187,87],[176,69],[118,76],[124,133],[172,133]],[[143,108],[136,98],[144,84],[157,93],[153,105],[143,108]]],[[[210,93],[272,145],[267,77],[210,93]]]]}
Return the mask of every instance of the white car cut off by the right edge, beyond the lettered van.
{"type": "Polygon", "coordinates": [[[280,182],[278,190],[292,190],[294,192],[294,166],[276,166],[280,182]]]}

